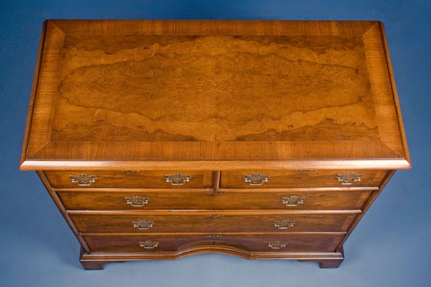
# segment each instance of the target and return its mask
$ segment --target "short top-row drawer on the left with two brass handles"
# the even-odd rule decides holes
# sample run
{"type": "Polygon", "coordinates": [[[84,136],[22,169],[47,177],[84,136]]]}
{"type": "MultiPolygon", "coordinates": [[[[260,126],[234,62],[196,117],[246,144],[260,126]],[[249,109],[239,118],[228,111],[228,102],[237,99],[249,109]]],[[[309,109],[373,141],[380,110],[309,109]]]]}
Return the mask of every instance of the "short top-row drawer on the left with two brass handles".
{"type": "Polygon", "coordinates": [[[211,188],[213,172],[45,171],[53,188],[211,188]]]}

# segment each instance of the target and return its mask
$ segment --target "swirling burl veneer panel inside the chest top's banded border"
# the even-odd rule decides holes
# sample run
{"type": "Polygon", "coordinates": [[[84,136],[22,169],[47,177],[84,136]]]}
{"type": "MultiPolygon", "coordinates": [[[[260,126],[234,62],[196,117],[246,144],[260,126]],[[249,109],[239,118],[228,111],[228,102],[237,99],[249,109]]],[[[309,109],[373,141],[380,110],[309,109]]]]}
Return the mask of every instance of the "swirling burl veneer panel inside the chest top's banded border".
{"type": "Polygon", "coordinates": [[[72,35],[61,63],[51,140],[379,139],[361,37],[72,35]]]}

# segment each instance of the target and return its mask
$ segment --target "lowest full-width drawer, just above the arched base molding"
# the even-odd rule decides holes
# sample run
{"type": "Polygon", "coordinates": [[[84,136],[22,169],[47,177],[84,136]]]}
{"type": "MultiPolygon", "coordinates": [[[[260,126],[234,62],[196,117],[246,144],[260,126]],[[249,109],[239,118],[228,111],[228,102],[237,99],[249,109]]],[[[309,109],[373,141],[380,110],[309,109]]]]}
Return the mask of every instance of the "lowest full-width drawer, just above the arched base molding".
{"type": "Polygon", "coordinates": [[[84,236],[92,252],[175,252],[197,247],[230,247],[262,252],[334,252],[344,235],[212,234],[84,236]],[[210,236],[210,237],[208,237],[210,236]]]}

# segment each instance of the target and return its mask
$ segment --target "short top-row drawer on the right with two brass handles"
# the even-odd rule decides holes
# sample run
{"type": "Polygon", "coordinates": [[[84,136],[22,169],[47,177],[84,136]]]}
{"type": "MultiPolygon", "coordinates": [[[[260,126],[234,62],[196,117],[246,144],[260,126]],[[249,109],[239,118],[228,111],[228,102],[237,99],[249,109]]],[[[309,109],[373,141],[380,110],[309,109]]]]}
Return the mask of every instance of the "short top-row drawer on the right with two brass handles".
{"type": "Polygon", "coordinates": [[[386,175],[380,170],[270,170],[224,171],[220,187],[231,188],[324,188],[378,187],[386,175]]]}

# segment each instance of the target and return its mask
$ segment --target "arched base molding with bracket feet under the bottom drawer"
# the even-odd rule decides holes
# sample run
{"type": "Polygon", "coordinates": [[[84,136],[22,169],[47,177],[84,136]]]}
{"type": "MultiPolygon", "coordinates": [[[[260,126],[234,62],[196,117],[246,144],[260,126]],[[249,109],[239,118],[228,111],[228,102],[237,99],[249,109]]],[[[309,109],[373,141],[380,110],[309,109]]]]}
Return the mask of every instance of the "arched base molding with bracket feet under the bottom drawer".
{"type": "Polygon", "coordinates": [[[319,262],[320,268],[338,268],[344,260],[343,247],[338,252],[251,252],[228,246],[200,246],[175,252],[92,252],[81,248],[80,261],[85,270],[101,270],[105,263],[140,260],[177,260],[183,257],[216,253],[241,257],[249,260],[278,259],[319,262]]]}

